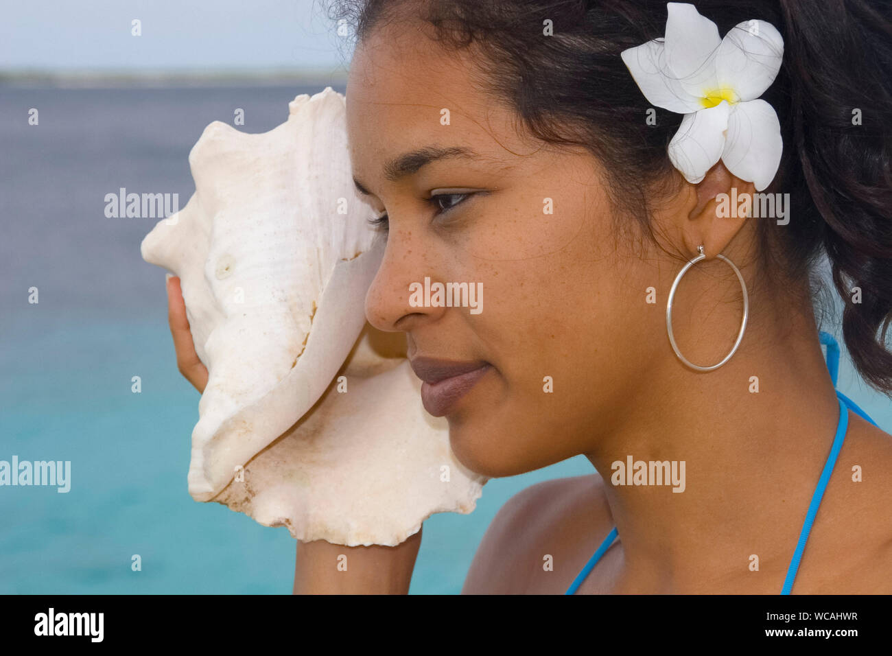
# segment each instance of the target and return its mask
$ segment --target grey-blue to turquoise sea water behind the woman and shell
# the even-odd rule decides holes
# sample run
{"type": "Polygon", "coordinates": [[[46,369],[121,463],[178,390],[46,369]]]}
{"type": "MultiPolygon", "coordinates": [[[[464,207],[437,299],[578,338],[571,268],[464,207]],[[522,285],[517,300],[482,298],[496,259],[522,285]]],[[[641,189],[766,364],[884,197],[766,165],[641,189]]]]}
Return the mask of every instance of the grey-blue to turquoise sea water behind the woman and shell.
{"type": "MultiPolygon", "coordinates": [[[[155,220],[107,219],[103,197],[176,192],[182,207],[187,156],[211,120],[241,107],[240,129],[266,131],[294,95],[319,90],[0,87],[0,460],[71,461],[68,494],[0,486],[0,593],[290,593],[285,528],[187,492],[199,395],[176,368],[164,272],[139,254],[155,220]]],[[[845,353],[838,387],[892,427],[890,403],[845,353]]],[[[410,592],[458,593],[508,497],[591,471],[579,456],[492,480],[475,512],[428,519],[410,592]]]]}

